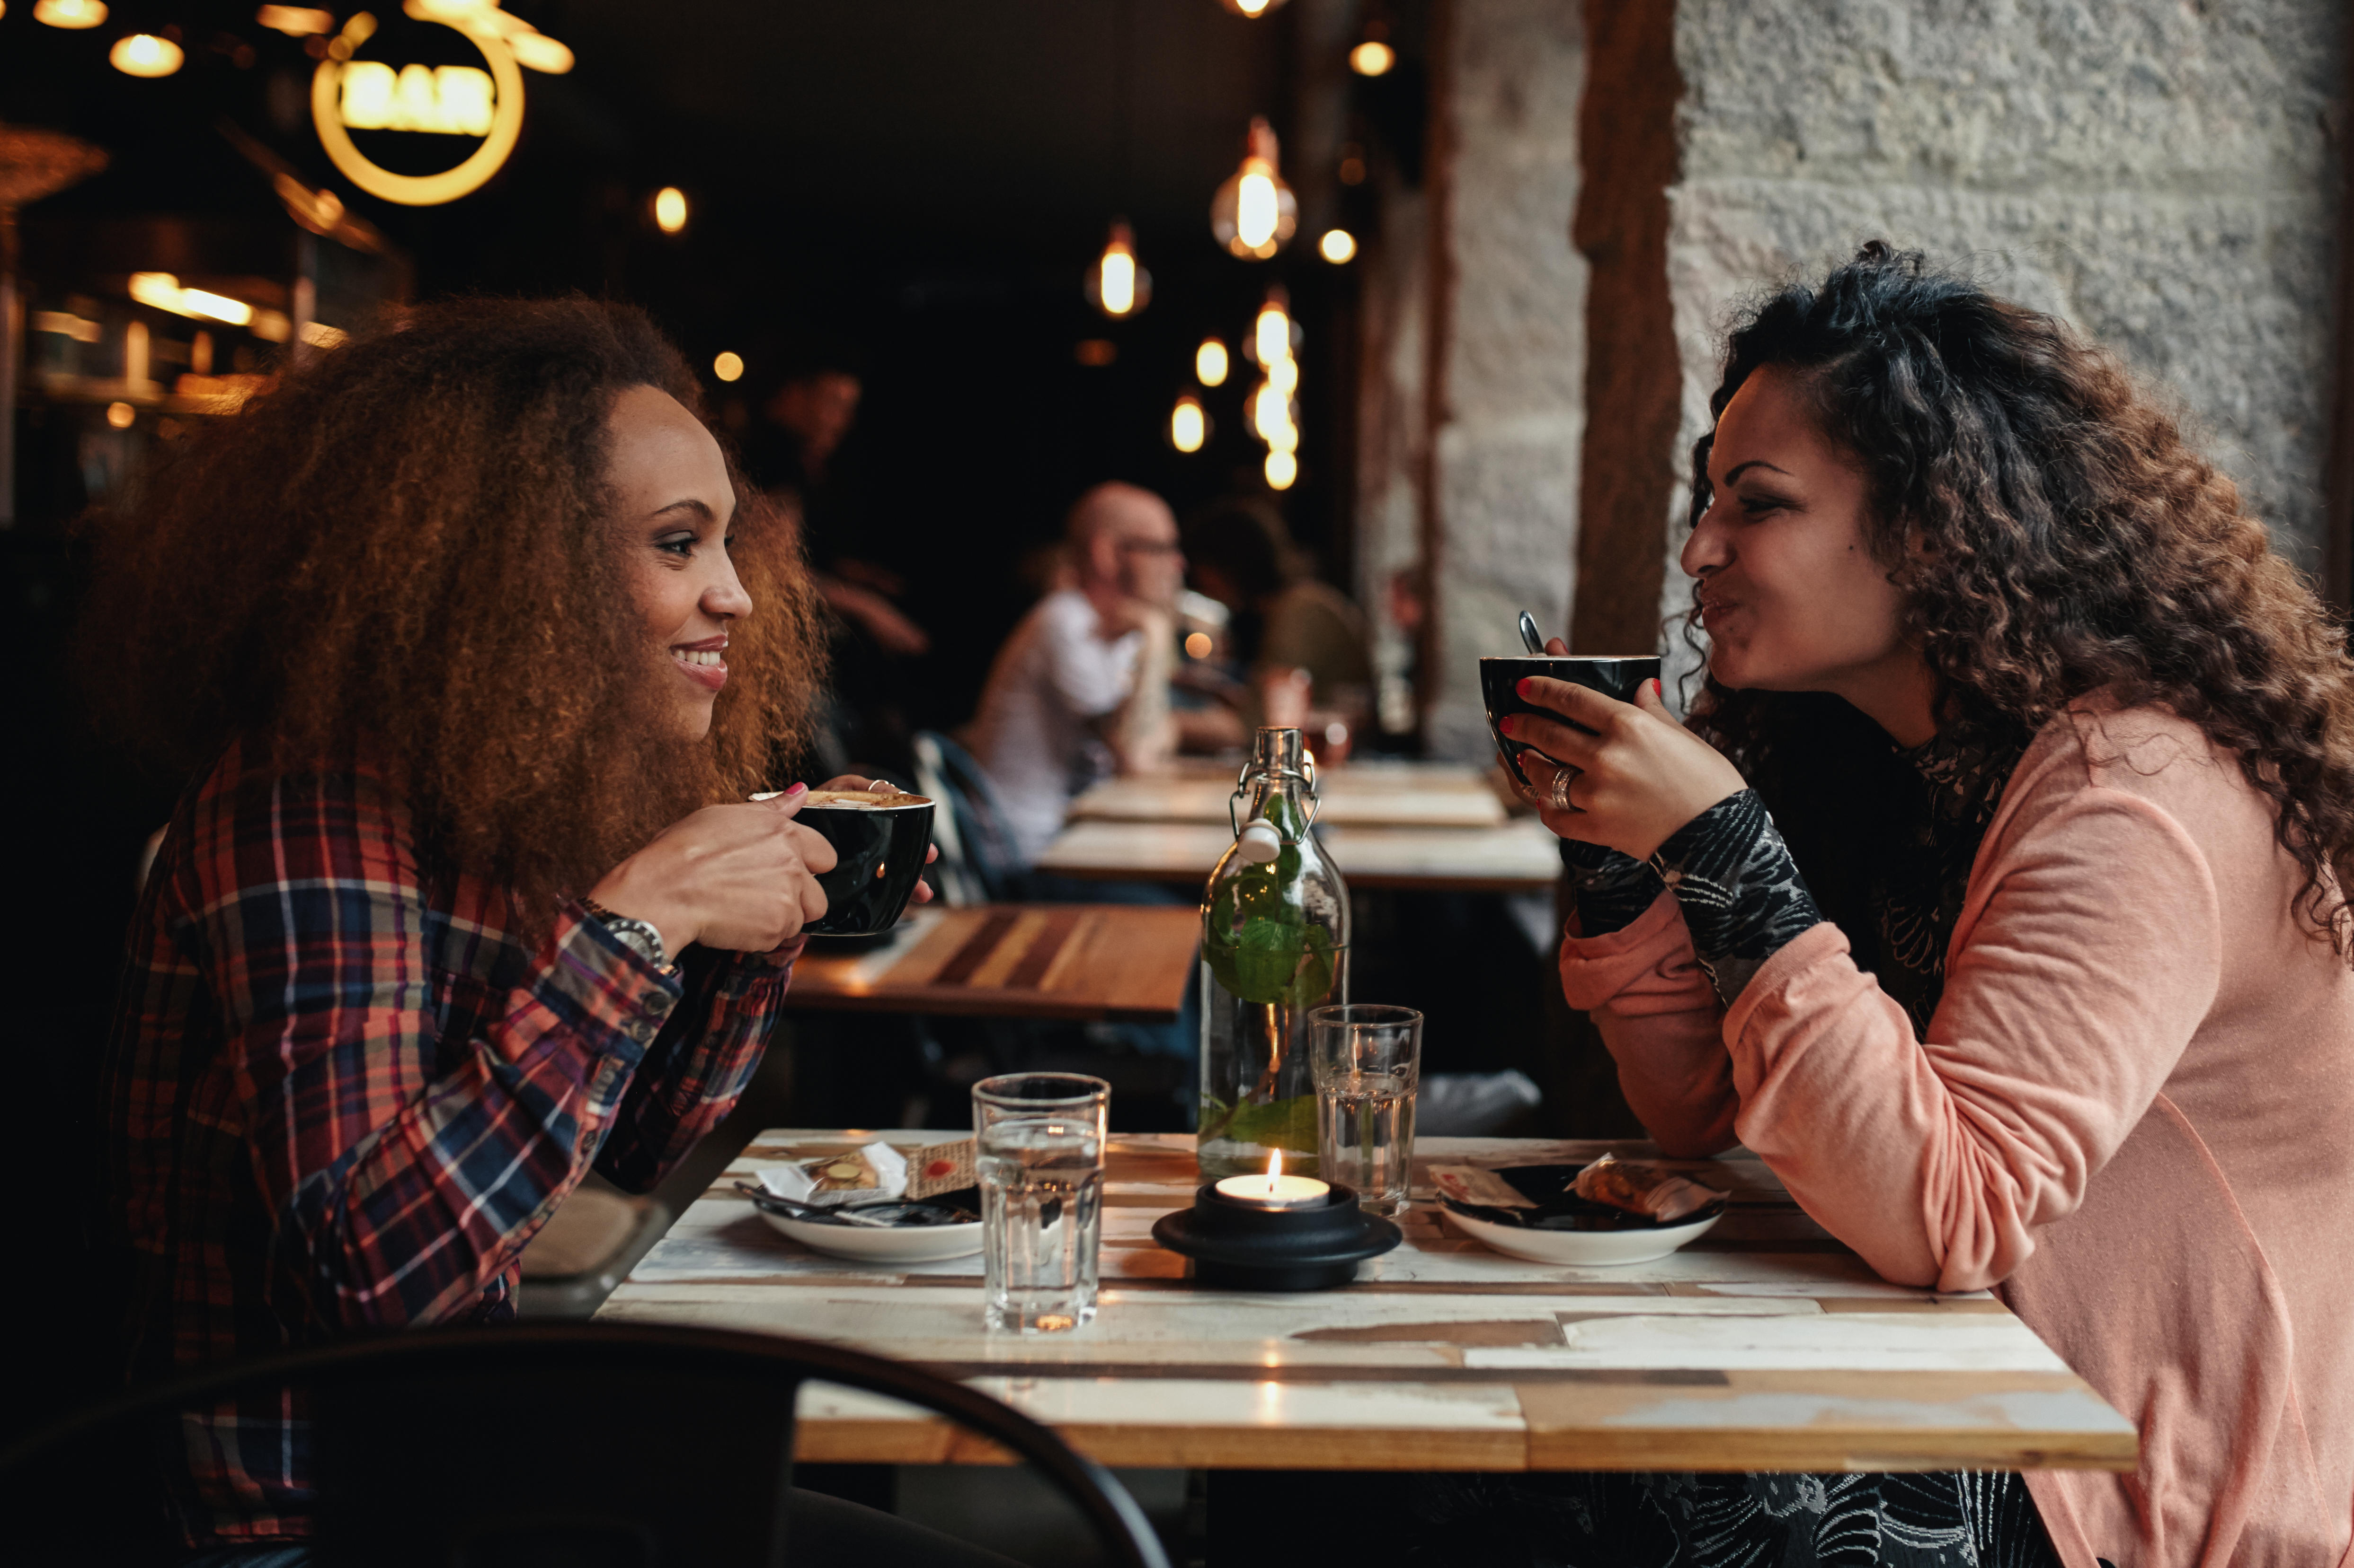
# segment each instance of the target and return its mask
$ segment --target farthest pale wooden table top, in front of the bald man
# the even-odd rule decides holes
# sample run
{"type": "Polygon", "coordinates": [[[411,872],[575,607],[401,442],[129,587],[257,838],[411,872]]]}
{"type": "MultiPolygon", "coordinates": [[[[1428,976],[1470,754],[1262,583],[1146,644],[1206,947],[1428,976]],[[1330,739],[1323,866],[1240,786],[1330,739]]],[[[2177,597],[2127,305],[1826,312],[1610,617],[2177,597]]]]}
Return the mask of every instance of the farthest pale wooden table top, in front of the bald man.
{"type": "MultiPolygon", "coordinates": [[[[1233,830],[1233,766],[1106,778],[1071,802],[1071,820],[1210,823],[1233,830]]],[[[1504,802],[1464,762],[1349,762],[1316,776],[1318,827],[1502,827],[1504,802]]]]}

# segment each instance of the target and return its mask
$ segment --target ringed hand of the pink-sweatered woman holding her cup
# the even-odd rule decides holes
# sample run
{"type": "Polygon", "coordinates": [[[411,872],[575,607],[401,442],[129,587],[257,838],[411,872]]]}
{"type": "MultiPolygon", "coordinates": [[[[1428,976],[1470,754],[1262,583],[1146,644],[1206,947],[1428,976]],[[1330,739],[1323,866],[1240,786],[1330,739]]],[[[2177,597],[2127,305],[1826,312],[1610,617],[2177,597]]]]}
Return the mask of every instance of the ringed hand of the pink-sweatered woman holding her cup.
{"type": "MultiPolygon", "coordinates": [[[[1556,637],[1547,654],[1568,649],[1556,637]]],[[[1523,679],[1518,691],[1558,715],[1516,712],[1499,729],[1535,748],[1521,755],[1521,769],[1535,785],[1537,816],[1563,839],[1648,860],[1678,827],[1749,788],[1714,745],[1676,722],[1660,682],[1645,682],[1634,703],[1542,675],[1523,679]],[[1563,771],[1572,811],[1554,809],[1554,778],[1563,771]]]]}

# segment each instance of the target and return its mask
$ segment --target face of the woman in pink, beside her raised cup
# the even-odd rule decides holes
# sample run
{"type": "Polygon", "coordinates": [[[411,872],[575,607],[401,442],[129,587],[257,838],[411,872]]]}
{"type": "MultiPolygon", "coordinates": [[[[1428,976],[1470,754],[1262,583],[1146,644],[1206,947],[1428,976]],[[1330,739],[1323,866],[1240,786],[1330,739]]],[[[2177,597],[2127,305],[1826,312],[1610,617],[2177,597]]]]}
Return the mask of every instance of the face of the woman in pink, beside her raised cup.
{"type": "Polygon", "coordinates": [[[1733,395],[1709,491],[1683,545],[1685,574],[1702,581],[1709,675],[1735,689],[1834,691],[1890,733],[1900,708],[1926,715],[1933,682],[1900,635],[1904,595],[1871,555],[1871,484],[1822,437],[1787,371],[1758,369],[1733,395]]]}

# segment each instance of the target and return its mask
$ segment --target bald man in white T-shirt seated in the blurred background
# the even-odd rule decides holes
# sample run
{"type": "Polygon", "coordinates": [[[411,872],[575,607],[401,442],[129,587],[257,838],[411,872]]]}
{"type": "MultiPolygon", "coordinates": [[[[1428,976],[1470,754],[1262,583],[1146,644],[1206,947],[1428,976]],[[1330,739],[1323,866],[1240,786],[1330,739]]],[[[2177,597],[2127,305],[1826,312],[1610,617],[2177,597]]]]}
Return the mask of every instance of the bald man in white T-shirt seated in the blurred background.
{"type": "Polygon", "coordinates": [[[1062,832],[1073,795],[1177,750],[1177,517],[1149,489],[1097,484],[1071,508],[1064,552],[1066,585],[1005,639],[972,724],[1024,863],[1062,832]]]}

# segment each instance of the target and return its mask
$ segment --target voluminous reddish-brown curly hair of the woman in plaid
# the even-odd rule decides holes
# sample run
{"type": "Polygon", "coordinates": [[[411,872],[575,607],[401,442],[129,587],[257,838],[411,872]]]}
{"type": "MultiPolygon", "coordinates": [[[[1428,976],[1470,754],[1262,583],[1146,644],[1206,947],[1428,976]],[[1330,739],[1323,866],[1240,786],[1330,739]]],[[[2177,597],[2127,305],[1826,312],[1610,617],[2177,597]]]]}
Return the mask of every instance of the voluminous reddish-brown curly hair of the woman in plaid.
{"type": "Polygon", "coordinates": [[[315,355],[99,515],[85,654],[134,748],[391,769],[435,872],[551,919],[661,825],[767,780],[822,679],[789,522],[737,482],[709,741],[676,741],[605,484],[607,411],[694,374],[626,306],[468,299],[315,355]]]}

